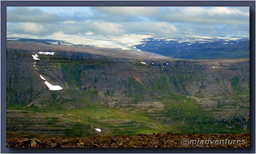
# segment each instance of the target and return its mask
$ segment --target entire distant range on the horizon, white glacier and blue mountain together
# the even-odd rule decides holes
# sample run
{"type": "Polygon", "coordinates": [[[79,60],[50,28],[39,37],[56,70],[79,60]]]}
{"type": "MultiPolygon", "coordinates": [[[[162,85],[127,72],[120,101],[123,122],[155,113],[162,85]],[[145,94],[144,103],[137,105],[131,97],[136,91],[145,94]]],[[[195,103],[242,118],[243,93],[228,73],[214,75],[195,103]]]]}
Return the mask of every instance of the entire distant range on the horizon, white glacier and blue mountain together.
{"type": "Polygon", "coordinates": [[[127,36],[122,39],[90,38],[79,41],[79,43],[68,43],[68,41],[58,41],[54,39],[26,39],[26,38],[7,38],[7,40],[19,40],[26,42],[44,43],[46,45],[71,45],[89,46],[88,42],[94,47],[109,46],[104,43],[113,44],[112,48],[126,48],[137,50],[138,52],[157,53],[175,59],[249,59],[250,58],[250,38],[248,37],[225,37],[225,36],[186,36],[184,38],[151,38],[137,40],[136,36],[127,36]],[[109,39],[109,40],[108,40],[109,39]],[[131,40],[130,40],[131,39],[131,40]],[[130,40],[130,41],[127,41],[130,40]],[[127,43],[125,43],[125,41],[127,43]],[[81,44],[82,43],[82,44],[81,44]],[[84,45],[83,45],[84,43],[84,45]],[[115,46],[114,46],[115,44],[115,46]],[[123,47],[122,47],[123,46],[123,47]]]}

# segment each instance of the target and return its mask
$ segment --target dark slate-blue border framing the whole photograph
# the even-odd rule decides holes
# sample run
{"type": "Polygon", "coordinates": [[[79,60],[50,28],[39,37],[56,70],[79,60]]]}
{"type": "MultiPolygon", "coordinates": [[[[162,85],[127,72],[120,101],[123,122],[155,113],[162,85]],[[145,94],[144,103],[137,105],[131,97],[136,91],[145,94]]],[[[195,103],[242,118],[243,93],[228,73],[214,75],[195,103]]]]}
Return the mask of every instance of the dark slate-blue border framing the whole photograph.
{"type": "Polygon", "coordinates": [[[255,1],[1,1],[1,153],[255,153],[255,1]],[[6,148],[6,6],[250,6],[250,148],[6,148]]]}

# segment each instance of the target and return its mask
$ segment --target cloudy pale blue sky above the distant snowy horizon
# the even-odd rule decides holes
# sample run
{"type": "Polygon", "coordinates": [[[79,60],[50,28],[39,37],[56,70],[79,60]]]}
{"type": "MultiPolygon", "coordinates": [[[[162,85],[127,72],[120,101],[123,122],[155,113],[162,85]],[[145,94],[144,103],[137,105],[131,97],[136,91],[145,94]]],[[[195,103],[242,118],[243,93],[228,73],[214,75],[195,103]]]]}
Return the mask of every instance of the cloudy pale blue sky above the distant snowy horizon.
{"type": "Polygon", "coordinates": [[[151,36],[249,36],[249,10],[249,7],[241,6],[8,6],[7,37],[65,41],[96,37],[122,41],[129,34],[138,39],[151,36]]]}

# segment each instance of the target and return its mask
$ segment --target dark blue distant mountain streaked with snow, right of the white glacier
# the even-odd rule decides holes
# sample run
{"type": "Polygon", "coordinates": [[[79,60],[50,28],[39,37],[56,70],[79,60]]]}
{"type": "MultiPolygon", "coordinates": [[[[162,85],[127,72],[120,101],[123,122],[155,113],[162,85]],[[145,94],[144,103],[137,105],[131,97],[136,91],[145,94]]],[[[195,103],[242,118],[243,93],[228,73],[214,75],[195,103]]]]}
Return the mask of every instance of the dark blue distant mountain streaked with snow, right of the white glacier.
{"type": "Polygon", "coordinates": [[[239,37],[150,38],[136,48],[177,59],[250,58],[250,39],[239,37]]]}

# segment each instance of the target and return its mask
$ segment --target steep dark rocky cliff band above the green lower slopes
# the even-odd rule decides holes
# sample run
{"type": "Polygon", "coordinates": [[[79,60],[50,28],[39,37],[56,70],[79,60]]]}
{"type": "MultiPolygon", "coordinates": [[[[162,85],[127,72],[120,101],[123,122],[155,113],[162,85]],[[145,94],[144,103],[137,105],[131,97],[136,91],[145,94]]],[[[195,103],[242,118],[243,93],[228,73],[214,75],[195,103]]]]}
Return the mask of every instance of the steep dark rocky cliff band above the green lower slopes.
{"type": "Polygon", "coordinates": [[[28,104],[63,93],[76,97],[86,92],[124,97],[170,93],[211,97],[249,92],[248,60],[134,60],[79,52],[55,52],[34,60],[31,56],[34,53],[8,48],[8,103],[28,104]],[[63,90],[48,90],[40,74],[63,90]]]}

